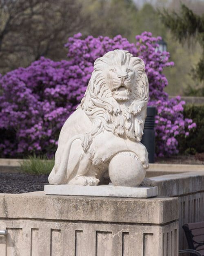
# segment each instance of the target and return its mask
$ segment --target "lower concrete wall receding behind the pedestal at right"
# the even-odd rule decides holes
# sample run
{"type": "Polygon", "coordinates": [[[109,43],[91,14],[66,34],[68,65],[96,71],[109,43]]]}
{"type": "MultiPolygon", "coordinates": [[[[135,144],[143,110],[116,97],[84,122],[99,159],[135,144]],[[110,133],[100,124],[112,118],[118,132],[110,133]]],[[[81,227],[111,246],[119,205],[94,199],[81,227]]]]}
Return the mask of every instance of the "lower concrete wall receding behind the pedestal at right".
{"type": "Polygon", "coordinates": [[[187,249],[182,229],[185,223],[204,221],[204,172],[186,172],[151,177],[159,187],[159,196],[178,197],[179,249],[187,249]]]}

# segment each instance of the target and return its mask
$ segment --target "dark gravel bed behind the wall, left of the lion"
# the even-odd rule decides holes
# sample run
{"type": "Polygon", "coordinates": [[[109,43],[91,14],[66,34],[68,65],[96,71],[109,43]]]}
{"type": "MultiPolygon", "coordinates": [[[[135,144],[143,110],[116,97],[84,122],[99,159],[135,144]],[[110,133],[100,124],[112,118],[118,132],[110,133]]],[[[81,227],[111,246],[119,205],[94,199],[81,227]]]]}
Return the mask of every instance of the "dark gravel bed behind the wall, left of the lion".
{"type": "Polygon", "coordinates": [[[0,173],[0,193],[27,193],[44,190],[48,174],[0,173]]]}

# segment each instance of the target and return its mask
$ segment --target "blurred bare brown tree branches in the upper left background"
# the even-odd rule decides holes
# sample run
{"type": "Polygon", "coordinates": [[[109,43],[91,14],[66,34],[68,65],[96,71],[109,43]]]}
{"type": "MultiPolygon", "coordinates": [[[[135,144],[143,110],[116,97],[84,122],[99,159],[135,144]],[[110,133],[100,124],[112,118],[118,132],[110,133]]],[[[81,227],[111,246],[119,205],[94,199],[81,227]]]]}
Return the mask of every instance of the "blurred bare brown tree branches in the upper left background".
{"type": "Polygon", "coordinates": [[[40,56],[64,59],[67,37],[89,22],[79,0],[1,0],[0,73],[29,66],[40,56]]]}

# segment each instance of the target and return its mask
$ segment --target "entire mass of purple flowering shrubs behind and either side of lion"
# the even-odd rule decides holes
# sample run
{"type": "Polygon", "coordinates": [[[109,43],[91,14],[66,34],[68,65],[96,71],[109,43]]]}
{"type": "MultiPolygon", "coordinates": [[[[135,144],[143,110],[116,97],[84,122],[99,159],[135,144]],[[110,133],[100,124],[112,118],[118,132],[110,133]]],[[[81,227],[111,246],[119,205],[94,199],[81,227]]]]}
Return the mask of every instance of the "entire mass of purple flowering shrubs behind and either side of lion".
{"type": "Polygon", "coordinates": [[[0,154],[20,157],[29,154],[48,154],[56,150],[60,128],[82,99],[93,62],[106,52],[128,50],[144,60],[150,86],[149,105],[157,108],[156,154],[176,154],[178,134],[188,136],[195,127],[184,119],[180,97],[168,99],[164,87],[168,82],[163,69],[173,66],[169,53],[160,52],[158,40],[151,33],[136,36],[130,43],[122,36],[88,36],[80,33],[65,45],[69,60],[54,62],[41,57],[27,68],[18,68],[0,77],[0,154]]]}

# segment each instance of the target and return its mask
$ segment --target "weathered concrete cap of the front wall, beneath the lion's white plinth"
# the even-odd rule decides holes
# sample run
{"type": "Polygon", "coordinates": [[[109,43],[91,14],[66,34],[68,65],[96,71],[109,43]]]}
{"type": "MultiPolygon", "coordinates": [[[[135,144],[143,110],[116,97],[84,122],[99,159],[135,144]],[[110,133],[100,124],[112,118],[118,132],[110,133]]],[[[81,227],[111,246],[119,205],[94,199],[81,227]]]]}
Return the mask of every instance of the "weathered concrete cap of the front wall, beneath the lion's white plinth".
{"type": "Polygon", "coordinates": [[[178,218],[177,198],[149,199],[0,194],[0,218],[164,224],[178,218]]]}

